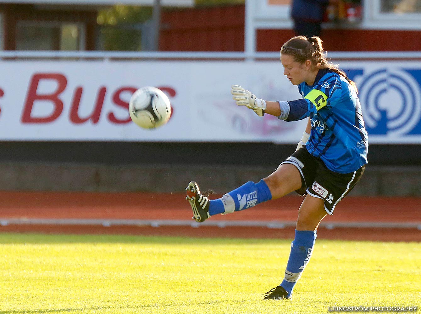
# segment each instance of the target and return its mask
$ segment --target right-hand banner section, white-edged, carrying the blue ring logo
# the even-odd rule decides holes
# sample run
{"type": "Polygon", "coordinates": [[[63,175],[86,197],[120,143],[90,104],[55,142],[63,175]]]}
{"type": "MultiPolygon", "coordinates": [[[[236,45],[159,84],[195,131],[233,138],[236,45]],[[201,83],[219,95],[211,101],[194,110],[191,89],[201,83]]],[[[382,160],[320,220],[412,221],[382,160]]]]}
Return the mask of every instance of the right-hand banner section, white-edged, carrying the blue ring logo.
{"type": "Polygon", "coordinates": [[[421,143],[419,63],[363,63],[349,78],[359,87],[369,142],[421,143]]]}

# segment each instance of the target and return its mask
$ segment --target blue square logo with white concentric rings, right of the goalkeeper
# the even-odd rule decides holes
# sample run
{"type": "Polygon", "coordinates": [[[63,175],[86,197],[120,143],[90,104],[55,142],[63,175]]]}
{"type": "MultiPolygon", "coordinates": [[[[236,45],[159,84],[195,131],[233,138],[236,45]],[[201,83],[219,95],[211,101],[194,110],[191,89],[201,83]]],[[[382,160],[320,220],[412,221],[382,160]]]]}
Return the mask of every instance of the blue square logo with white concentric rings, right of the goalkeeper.
{"type": "MultiPolygon", "coordinates": [[[[349,71],[349,78],[363,71],[349,71]]],[[[365,127],[372,135],[421,134],[421,70],[379,69],[358,82],[365,127]]]]}

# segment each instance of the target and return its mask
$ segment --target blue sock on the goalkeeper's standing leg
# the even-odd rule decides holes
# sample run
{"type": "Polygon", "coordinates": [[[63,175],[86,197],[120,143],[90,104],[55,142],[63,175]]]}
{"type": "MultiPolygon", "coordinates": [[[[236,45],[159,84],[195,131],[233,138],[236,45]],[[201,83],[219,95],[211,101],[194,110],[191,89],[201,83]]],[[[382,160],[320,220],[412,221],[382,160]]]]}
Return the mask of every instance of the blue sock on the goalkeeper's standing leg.
{"type": "Polygon", "coordinates": [[[295,230],[295,239],[291,243],[291,253],[285,270],[285,278],[280,284],[288,292],[287,298],[292,294],[295,284],[312,256],[316,231],[295,230]]]}

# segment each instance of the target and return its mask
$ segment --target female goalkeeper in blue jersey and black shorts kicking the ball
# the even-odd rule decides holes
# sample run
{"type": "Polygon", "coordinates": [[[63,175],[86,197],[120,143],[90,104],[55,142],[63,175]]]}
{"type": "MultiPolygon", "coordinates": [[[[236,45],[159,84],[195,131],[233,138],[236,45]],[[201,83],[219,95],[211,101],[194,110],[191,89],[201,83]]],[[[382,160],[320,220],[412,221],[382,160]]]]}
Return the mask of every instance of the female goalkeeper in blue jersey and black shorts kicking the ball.
{"type": "Polygon", "coordinates": [[[337,66],[329,63],[319,37],[293,37],[281,48],[284,75],[303,99],[265,101],[233,85],[237,105],[258,116],[265,113],[285,121],[308,118],[297,150],[268,177],[249,181],[222,198],[209,200],[196,182],[187,187],[187,200],[194,219],[203,222],[215,214],[244,210],[296,191],[305,196],[298,210],[295,238],[279,286],[264,299],[290,298],[306,267],[316,240],[316,230],[327,214],[361,178],[367,164],[368,137],[365,131],[357,87],[337,66]]]}

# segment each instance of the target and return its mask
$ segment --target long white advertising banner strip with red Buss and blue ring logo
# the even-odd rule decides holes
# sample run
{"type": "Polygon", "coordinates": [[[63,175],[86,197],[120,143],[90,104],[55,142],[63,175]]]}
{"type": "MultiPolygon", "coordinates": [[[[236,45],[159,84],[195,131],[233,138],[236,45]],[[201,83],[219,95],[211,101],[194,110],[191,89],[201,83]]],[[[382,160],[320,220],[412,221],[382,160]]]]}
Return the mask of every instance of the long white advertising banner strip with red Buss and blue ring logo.
{"type": "MultiPolygon", "coordinates": [[[[285,122],[236,106],[231,85],[266,100],[301,98],[279,61],[1,61],[0,140],[251,141],[296,143],[306,119],[285,122]],[[142,86],[167,93],[168,124],[144,130],[128,100],[142,86]]],[[[346,62],[370,143],[421,143],[421,66],[346,62]]]]}

